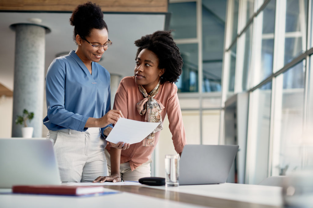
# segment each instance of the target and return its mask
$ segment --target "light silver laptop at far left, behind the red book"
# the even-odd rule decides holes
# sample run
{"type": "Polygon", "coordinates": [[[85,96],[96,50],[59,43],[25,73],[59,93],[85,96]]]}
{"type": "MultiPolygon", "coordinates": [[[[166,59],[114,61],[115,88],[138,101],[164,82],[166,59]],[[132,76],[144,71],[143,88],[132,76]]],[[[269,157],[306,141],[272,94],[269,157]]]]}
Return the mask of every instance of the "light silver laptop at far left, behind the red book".
{"type": "Polygon", "coordinates": [[[0,138],[0,188],[60,183],[51,140],[0,138]]]}

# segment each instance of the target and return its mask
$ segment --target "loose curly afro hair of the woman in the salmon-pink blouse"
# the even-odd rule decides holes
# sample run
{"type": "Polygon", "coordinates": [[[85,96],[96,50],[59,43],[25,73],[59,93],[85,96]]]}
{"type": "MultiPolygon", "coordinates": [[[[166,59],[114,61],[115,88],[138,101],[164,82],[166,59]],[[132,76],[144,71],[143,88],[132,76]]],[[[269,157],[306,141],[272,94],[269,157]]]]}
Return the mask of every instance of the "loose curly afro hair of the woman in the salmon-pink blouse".
{"type": "Polygon", "coordinates": [[[138,47],[136,59],[143,49],[148,49],[156,54],[159,59],[159,69],[165,69],[161,76],[161,84],[166,81],[175,83],[182,74],[182,57],[179,48],[173,40],[171,31],[156,31],[153,34],[142,36],[135,41],[138,47]]]}

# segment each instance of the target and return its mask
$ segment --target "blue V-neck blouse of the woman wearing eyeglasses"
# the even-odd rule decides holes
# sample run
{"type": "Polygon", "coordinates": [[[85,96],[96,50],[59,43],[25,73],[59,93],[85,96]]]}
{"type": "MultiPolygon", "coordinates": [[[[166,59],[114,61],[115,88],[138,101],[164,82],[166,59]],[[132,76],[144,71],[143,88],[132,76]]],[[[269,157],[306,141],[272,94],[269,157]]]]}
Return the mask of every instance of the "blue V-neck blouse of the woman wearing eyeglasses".
{"type": "Polygon", "coordinates": [[[101,118],[111,109],[110,74],[98,63],[92,62],[91,67],[92,74],[75,51],[53,60],[46,75],[47,116],[43,120],[49,130],[86,131],[89,117],[101,118]]]}

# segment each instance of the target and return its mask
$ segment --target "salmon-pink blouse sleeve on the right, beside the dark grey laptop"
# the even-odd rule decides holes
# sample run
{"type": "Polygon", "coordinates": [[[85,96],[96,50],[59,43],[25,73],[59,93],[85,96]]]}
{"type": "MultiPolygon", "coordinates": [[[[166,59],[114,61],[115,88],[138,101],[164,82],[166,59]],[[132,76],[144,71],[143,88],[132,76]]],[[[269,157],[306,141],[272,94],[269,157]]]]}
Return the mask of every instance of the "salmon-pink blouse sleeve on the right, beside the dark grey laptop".
{"type": "Polygon", "coordinates": [[[169,121],[169,129],[172,133],[174,148],[177,153],[180,153],[187,144],[187,141],[184,124],[182,122],[182,111],[179,105],[176,85],[174,85],[167,103],[167,117],[169,121]]]}

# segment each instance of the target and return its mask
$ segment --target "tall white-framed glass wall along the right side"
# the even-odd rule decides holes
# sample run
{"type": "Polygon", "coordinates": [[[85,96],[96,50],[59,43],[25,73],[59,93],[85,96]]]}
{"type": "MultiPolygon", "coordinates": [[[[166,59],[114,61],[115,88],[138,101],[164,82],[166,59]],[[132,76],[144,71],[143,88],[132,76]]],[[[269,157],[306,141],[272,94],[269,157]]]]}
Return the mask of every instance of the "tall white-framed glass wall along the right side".
{"type": "Polygon", "coordinates": [[[312,0],[228,0],[226,13],[219,139],[224,106],[245,92],[244,182],[312,168],[312,0]]]}

